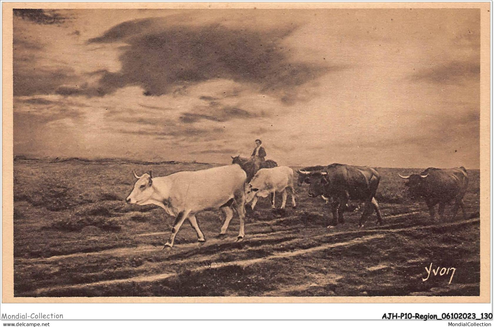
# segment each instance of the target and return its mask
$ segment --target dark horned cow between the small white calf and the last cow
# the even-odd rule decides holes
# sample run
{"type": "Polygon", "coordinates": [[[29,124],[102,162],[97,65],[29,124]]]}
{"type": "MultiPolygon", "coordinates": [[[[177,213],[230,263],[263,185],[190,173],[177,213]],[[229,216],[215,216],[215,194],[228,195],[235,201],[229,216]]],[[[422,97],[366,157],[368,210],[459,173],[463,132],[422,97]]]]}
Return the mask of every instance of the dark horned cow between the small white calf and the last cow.
{"type": "Polygon", "coordinates": [[[382,224],[379,206],[374,198],[381,177],[375,169],[333,163],[320,171],[299,170],[298,173],[306,176],[304,182],[310,184],[310,197],[324,195],[333,199],[333,220],[328,228],[337,225],[338,222],[344,222],[343,213],[349,200],[365,203],[359,226],[364,225],[365,218],[371,214],[372,209],[377,215],[377,221],[382,224]]]}

